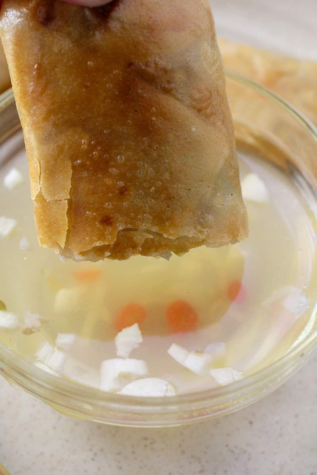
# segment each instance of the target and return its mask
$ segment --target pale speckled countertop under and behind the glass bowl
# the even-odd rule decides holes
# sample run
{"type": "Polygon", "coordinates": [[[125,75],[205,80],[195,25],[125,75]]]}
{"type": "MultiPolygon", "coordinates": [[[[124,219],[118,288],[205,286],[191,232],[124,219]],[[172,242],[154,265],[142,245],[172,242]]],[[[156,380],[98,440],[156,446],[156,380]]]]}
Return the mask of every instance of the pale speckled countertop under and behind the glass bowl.
{"type": "MultiPolygon", "coordinates": [[[[220,35],[317,59],[316,0],[211,4],[220,35]]],[[[317,475],[316,355],[249,408],[183,428],[77,421],[4,379],[0,398],[0,462],[11,475],[317,475]]]]}

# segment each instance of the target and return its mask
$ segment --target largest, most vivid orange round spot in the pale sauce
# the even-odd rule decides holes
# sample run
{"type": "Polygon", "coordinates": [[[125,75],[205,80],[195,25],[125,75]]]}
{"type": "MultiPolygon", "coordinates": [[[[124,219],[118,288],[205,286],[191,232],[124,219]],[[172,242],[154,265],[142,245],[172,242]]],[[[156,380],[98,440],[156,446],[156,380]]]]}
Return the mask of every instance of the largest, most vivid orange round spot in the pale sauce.
{"type": "Polygon", "coordinates": [[[172,333],[193,332],[198,323],[198,315],[192,305],[184,300],[173,302],[167,309],[167,323],[172,333]]]}

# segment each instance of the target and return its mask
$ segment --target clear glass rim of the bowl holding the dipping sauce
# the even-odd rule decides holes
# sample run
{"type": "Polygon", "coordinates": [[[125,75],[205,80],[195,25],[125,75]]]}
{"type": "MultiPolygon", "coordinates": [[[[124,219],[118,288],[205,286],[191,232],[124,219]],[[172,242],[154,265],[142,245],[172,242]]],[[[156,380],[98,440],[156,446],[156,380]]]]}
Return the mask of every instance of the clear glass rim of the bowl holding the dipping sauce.
{"type": "MultiPolygon", "coordinates": [[[[317,129],[284,99],[254,81],[231,71],[226,76],[279,104],[316,142],[317,129]]],[[[14,106],[12,89],[0,95],[0,116],[14,106]]],[[[0,141],[19,125],[11,126],[0,141]]],[[[312,315],[317,312],[317,305],[312,315]]],[[[13,384],[75,417],[132,426],[171,426],[216,417],[240,409],[279,387],[317,348],[317,326],[297,346],[270,366],[227,386],[173,397],[120,396],[50,375],[20,359],[0,344],[0,373],[13,384]],[[152,418],[151,418],[152,416],[152,418]]]]}

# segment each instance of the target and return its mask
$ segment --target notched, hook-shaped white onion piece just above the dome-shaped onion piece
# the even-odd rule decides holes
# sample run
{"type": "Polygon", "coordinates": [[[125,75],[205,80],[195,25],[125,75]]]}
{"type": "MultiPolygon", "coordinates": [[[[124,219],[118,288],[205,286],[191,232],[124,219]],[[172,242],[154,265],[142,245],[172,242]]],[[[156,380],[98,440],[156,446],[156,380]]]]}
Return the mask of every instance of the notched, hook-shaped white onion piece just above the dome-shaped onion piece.
{"type": "Polygon", "coordinates": [[[114,358],[102,361],[100,367],[100,389],[112,391],[125,386],[123,379],[134,380],[148,374],[147,364],[143,360],[114,358]],[[120,378],[122,380],[120,380],[120,378]]]}

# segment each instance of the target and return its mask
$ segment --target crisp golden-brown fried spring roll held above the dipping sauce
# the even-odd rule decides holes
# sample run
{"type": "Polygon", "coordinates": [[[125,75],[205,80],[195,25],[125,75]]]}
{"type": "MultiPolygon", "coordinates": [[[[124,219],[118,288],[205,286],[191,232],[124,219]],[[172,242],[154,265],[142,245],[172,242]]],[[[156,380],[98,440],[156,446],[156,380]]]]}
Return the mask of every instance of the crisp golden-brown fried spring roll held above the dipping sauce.
{"type": "Polygon", "coordinates": [[[208,0],[4,0],[38,239],[126,259],[246,236],[208,0]]]}

